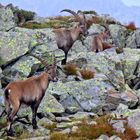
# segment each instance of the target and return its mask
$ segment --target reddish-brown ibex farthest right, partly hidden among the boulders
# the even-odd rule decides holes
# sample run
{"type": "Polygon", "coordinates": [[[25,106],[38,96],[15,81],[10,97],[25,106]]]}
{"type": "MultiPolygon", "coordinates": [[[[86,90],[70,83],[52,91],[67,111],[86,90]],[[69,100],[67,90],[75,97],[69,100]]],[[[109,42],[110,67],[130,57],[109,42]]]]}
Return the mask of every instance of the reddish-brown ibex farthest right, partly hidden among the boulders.
{"type": "Polygon", "coordinates": [[[104,42],[108,37],[108,31],[104,31],[94,36],[91,41],[91,51],[101,52],[105,49],[112,48],[112,45],[104,42]]]}

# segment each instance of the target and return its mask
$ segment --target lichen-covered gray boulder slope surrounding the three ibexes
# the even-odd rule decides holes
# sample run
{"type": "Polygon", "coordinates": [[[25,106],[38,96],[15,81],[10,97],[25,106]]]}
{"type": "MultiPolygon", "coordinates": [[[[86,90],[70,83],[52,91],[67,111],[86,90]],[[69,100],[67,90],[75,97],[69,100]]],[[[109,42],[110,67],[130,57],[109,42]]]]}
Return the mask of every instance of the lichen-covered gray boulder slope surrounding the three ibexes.
{"type": "MultiPolygon", "coordinates": [[[[29,53],[49,59],[51,52],[54,51],[58,61],[64,58],[64,53],[57,49],[51,28],[17,27],[10,7],[1,7],[0,11],[1,115],[4,110],[2,101],[4,87],[11,81],[25,79],[29,75],[38,75],[42,71],[39,62],[29,53]],[[41,45],[36,45],[37,43],[41,45]]],[[[92,16],[89,14],[86,18],[90,19],[92,16]]],[[[111,17],[103,17],[104,20],[107,18],[114,20],[111,17]]],[[[72,134],[78,131],[81,119],[96,124],[93,117],[110,113],[117,118],[127,118],[125,121],[136,131],[137,137],[140,137],[138,119],[140,114],[140,29],[129,31],[119,22],[115,20],[114,22],[108,24],[110,37],[107,40],[114,46],[113,48],[94,53],[90,48],[93,36],[88,36],[84,40],[84,45],[77,40],[69,52],[68,63],[75,64],[78,69],[93,71],[94,78],[84,80],[77,75],[66,75],[63,67],[58,63],[59,81],[50,83],[38,110],[39,129],[33,131],[31,125],[15,122],[13,128],[16,137],[54,139],[51,134],[55,131],[72,134]],[[123,48],[123,51],[118,53],[118,48],[123,48]]],[[[88,29],[90,34],[104,30],[104,26],[94,23],[88,29]]],[[[17,115],[18,117],[28,116],[30,120],[31,110],[30,108],[20,109],[17,115]]],[[[5,137],[3,135],[5,121],[6,116],[2,114],[0,137],[5,137]]],[[[122,133],[126,129],[123,121],[119,119],[115,124],[113,123],[113,127],[122,133]]],[[[119,136],[107,136],[107,134],[101,135],[98,139],[105,138],[120,139],[119,136]]],[[[85,137],[85,139],[90,138],[85,137]]]]}

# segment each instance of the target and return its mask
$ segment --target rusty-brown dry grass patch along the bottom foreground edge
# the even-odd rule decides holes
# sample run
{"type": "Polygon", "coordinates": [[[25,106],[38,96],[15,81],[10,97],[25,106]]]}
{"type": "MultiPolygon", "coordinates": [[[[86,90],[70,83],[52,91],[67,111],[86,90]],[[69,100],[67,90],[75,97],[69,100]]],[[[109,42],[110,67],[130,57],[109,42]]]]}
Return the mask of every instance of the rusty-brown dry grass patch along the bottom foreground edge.
{"type": "MultiPolygon", "coordinates": [[[[76,132],[72,132],[70,134],[53,132],[51,134],[51,140],[93,140],[102,134],[109,137],[116,135],[122,140],[134,140],[137,138],[135,130],[129,127],[128,123],[124,124],[124,133],[117,132],[110,123],[110,120],[112,119],[115,120],[116,118],[113,118],[110,115],[102,116],[95,119],[97,124],[88,124],[87,121],[83,120],[78,125],[78,130],[76,132]]],[[[122,118],[120,120],[122,120],[122,118]]],[[[124,118],[124,120],[127,121],[126,118],[124,118]]]]}

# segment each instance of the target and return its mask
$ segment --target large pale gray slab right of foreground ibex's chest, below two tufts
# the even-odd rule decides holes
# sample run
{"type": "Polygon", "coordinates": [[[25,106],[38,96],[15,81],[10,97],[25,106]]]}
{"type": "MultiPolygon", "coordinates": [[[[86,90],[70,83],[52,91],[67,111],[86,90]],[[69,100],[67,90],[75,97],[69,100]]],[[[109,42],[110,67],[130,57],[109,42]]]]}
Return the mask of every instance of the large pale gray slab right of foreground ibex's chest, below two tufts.
{"type": "Polygon", "coordinates": [[[49,90],[51,88],[53,88],[52,94],[60,96],[59,102],[64,105],[65,110],[78,107],[78,110],[99,111],[97,108],[102,107],[105,103],[106,89],[110,89],[111,86],[97,78],[80,82],[72,81],[65,84],[58,82],[55,86],[51,85],[49,90]],[[68,100],[69,97],[72,100],[68,100]]]}

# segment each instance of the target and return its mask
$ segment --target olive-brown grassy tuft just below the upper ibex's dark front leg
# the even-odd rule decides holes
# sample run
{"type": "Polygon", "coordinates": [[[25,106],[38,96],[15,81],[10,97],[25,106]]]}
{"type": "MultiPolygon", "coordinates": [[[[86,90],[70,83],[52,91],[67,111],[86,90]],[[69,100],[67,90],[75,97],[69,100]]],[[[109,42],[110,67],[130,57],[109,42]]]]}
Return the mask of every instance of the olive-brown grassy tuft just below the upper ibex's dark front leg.
{"type": "Polygon", "coordinates": [[[67,75],[76,75],[77,74],[77,67],[74,64],[67,64],[64,66],[63,69],[67,75]]]}

